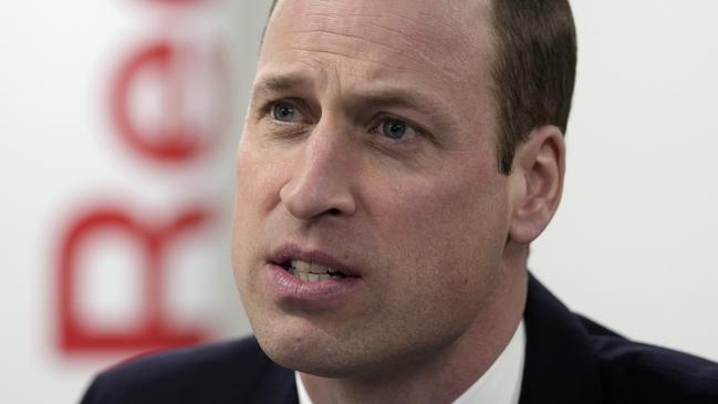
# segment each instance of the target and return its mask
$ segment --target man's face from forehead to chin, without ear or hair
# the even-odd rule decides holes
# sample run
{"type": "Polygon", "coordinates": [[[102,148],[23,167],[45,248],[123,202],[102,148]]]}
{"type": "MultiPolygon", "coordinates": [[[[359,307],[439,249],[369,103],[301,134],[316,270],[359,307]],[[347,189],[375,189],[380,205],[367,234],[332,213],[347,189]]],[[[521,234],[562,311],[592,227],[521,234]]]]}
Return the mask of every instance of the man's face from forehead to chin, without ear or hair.
{"type": "Polygon", "coordinates": [[[275,9],[238,153],[232,260],[278,363],[396,370],[495,315],[512,208],[488,13],[485,1],[275,9]]]}

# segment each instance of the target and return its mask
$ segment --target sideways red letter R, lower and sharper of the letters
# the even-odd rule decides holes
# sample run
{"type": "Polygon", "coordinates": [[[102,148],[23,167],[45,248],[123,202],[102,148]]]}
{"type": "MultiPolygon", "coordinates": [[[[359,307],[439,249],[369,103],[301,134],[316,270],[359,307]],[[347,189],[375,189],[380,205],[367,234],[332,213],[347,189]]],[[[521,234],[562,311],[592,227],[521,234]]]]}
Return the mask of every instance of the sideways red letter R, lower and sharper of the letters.
{"type": "Polygon", "coordinates": [[[149,350],[164,346],[188,345],[202,340],[199,330],[179,332],[166,320],[163,298],[165,267],[163,258],[168,244],[183,231],[192,230],[208,219],[208,215],[194,209],[179,215],[173,222],[162,227],[139,224],[119,209],[106,208],[89,213],[75,221],[62,240],[60,251],[60,345],[67,352],[149,350]],[[82,324],[76,314],[76,259],[81,241],[93,237],[96,230],[119,230],[145,249],[144,319],[139,331],[96,332],[82,324]]]}

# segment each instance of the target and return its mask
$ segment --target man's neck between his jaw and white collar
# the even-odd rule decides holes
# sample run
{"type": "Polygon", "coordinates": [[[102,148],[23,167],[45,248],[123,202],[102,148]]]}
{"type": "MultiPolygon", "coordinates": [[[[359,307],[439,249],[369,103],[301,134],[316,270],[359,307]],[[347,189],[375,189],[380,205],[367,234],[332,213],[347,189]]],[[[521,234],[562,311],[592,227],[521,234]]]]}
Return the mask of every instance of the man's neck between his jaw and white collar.
{"type": "Polygon", "coordinates": [[[491,366],[508,345],[523,315],[527,296],[528,249],[509,251],[512,260],[497,277],[487,299],[486,315],[477,318],[461,336],[413,363],[387,365],[368,375],[329,379],[301,373],[314,404],[324,403],[450,403],[491,366]]]}

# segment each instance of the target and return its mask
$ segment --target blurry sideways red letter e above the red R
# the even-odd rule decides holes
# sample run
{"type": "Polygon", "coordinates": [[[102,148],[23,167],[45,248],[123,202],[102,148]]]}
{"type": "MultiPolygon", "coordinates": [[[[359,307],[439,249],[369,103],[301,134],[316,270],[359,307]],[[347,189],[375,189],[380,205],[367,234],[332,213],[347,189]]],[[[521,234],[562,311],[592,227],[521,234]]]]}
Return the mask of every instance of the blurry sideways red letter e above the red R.
{"type": "Polygon", "coordinates": [[[121,66],[112,87],[111,112],[118,134],[132,149],[154,160],[183,163],[200,155],[217,139],[227,124],[227,86],[231,81],[223,74],[227,70],[221,53],[218,52],[214,60],[200,58],[191,53],[191,46],[178,48],[159,41],[138,51],[121,66]],[[214,70],[191,73],[192,68],[202,66],[202,62],[210,63],[214,70]],[[154,122],[154,130],[141,127],[132,113],[136,84],[143,73],[154,73],[150,77],[162,91],[162,116],[159,122],[154,122]],[[192,92],[191,84],[202,83],[202,80],[214,85],[200,87],[200,94],[192,92]],[[209,97],[211,105],[209,113],[199,115],[206,122],[197,122],[198,115],[189,114],[187,107],[202,95],[209,97]]]}

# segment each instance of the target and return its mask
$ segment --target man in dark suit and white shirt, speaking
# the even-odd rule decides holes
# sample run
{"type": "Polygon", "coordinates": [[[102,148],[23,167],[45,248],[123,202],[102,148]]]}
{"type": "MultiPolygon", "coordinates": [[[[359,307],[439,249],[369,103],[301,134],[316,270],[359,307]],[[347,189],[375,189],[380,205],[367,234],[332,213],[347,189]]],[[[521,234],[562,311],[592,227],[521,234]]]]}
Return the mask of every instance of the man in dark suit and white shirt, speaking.
{"type": "Polygon", "coordinates": [[[718,403],[718,366],[527,272],[574,71],[561,0],[279,1],[237,166],[257,340],[126,364],[84,401],[718,403]]]}

